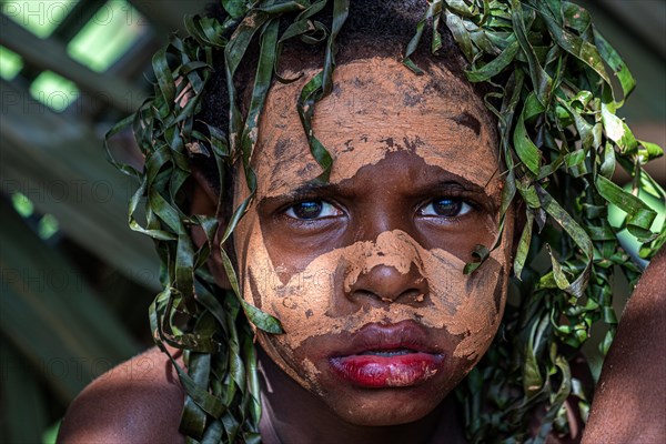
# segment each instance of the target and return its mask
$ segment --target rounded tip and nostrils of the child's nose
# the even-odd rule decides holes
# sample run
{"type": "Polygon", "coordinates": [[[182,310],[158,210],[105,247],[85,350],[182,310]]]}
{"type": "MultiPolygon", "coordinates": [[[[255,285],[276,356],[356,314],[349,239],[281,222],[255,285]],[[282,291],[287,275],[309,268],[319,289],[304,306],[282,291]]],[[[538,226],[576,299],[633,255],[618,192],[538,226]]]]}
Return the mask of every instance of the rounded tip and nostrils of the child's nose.
{"type": "Polygon", "coordinates": [[[375,265],[361,273],[350,286],[347,297],[353,302],[381,301],[384,303],[420,303],[428,294],[425,278],[415,263],[404,273],[394,266],[375,265]]]}

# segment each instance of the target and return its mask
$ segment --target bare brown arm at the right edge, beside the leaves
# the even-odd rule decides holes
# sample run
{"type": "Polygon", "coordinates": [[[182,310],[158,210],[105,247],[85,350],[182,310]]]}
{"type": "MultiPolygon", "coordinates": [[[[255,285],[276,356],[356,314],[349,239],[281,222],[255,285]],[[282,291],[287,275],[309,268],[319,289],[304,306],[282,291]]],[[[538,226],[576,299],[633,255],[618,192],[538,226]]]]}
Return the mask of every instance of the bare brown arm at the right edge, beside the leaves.
{"type": "Polygon", "coordinates": [[[643,274],[604,362],[584,444],[666,442],[666,249],[643,274]]]}

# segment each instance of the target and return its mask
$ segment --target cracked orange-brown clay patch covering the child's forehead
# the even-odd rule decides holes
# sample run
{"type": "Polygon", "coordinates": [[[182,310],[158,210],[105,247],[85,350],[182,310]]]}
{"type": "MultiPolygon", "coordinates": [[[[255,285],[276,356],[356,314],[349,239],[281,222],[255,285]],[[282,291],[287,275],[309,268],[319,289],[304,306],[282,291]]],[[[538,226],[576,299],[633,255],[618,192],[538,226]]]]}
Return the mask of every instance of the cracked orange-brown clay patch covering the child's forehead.
{"type": "MultiPolygon", "coordinates": [[[[278,83],[269,93],[254,157],[260,199],[289,193],[321,173],[296,111],[301,89],[315,73],[278,83]]],[[[333,157],[332,183],[398,150],[480,186],[498,176],[497,143],[484,104],[470,83],[438,65],[424,75],[391,58],[337,67],[332,93],[316,104],[313,129],[333,157]]]]}

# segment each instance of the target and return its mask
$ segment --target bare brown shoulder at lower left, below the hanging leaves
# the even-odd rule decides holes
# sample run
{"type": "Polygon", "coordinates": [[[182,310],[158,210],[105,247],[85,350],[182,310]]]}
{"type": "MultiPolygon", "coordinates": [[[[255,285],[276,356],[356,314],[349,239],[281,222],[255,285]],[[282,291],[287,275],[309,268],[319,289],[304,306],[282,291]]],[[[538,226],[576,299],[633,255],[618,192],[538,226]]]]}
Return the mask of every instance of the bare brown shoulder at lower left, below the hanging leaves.
{"type": "Polygon", "coordinates": [[[77,396],[58,442],[184,442],[178,432],[183,400],[169,357],[150,349],[101,375],[77,396]]]}

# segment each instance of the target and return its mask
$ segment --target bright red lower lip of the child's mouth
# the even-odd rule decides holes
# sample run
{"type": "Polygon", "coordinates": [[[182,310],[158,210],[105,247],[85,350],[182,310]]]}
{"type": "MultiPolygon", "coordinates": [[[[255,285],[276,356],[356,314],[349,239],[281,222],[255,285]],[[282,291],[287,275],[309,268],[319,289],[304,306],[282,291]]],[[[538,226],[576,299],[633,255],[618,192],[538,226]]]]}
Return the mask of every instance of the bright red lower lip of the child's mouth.
{"type": "Polygon", "coordinates": [[[335,373],[354,385],[367,389],[418,385],[442,370],[444,356],[408,353],[394,356],[373,354],[331,359],[335,373]]]}

